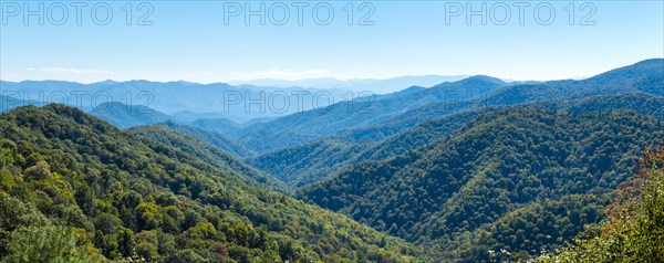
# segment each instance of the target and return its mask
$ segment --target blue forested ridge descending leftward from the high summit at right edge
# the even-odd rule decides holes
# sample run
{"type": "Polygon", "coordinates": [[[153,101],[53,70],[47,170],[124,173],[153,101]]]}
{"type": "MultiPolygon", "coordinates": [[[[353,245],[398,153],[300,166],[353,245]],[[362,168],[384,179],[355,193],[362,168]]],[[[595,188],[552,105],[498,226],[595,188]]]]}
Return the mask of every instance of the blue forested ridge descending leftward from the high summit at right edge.
{"type": "MultiPolygon", "coordinates": [[[[343,130],[341,136],[354,141],[378,141],[432,117],[487,106],[541,105],[579,101],[593,96],[623,94],[664,95],[664,60],[646,60],[581,81],[553,81],[507,85],[480,96],[465,97],[449,93],[449,99],[409,109],[388,118],[343,130]]],[[[623,104],[624,105],[624,104],[623,104]]]]}

